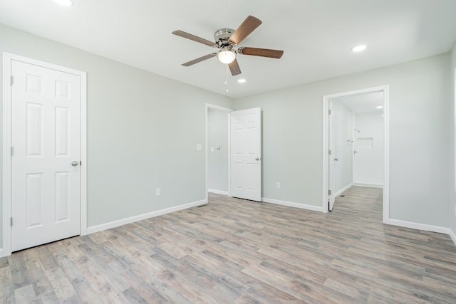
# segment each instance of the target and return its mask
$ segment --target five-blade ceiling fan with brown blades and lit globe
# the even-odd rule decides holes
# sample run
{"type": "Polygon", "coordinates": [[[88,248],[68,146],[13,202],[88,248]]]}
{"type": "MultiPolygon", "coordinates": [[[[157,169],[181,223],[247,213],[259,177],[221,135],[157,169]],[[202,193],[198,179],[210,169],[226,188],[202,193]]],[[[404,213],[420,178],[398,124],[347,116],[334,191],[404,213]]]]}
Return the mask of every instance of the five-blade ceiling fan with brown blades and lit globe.
{"type": "Polygon", "coordinates": [[[182,65],[194,65],[195,63],[199,63],[201,61],[205,61],[209,58],[217,56],[217,58],[219,58],[219,61],[226,63],[229,66],[231,74],[235,76],[241,73],[241,69],[239,68],[239,64],[237,63],[236,59],[238,54],[277,59],[281,58],[281,56],[284,54],[284,51],[270,50],[267,48],[248,48],[244,46],[236,48],[239,43],[247,38],[247,36],[249,36],[249,34],[252,33],[252,31],[254,31],[258,26],[260,26],[260,24],[261,20],[257,19],[254,16],[248,16],[236,31],[231,28],[222,28],[215,31],[215,42],[200,38],[198,36],[192,35],[191,33],[186,33],[185,31],[177,30],[173,31],[172,33],[177,36],[181,36],[183,38],[197,41],[207,46],[212,46],[213,48],[219,49],[219,51],[216,53],[207,54],[192,61],[182,63],[182,65]]]}

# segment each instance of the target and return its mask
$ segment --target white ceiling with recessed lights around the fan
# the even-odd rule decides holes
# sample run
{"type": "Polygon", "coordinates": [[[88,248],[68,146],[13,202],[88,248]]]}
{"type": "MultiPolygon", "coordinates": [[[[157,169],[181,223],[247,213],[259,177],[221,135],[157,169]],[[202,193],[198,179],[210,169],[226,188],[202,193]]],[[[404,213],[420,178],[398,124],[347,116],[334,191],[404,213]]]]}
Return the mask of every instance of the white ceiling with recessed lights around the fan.
{"type": "Polygon", "coordinates": [[[233,98],[445,53],[456,41],[455,0],[73,1],[0,0],[0,23],[233,98]],[[263,24],[241,46],[284,50],[281,59],[240,55],[240,77],[217,58],[181,66],[214,49],[172,31],[212,41],[248,15],[263,24]],[[366,51],[351,52],[361,43],[366,51]]]}

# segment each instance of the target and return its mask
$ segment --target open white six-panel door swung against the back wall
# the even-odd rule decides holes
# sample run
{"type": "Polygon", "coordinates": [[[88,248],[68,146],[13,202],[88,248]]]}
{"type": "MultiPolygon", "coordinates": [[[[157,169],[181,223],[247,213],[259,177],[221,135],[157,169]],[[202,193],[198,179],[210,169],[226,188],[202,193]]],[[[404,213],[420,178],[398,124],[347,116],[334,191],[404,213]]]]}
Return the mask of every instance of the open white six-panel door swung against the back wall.
{"type": "Polygon", "coordinates": [[[230,115],[230,195],[261,201],[261,109],[230,115]]]}

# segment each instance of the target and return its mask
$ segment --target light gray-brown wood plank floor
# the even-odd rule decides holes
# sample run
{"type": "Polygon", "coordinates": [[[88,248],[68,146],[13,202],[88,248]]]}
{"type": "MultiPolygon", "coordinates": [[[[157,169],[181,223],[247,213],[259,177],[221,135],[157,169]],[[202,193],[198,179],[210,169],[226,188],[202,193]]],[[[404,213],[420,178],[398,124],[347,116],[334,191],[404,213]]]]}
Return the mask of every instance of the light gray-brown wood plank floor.
{"type": "Polygon", "coordinates": [[[209,204],[0,258],[0,303],[456,303],[449,236],[381,223],[381,189],[322,214],[209,204]]]}

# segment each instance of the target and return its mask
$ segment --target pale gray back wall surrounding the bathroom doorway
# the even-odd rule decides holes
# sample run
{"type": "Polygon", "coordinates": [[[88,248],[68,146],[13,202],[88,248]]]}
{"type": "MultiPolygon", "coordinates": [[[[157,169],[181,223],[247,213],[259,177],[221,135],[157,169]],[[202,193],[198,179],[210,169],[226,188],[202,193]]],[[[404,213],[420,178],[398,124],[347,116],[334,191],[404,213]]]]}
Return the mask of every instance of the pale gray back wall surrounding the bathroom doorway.
{"type": "Polygon", "coordinates": [[[449,66],[443,54],[236,100],[263,111],[263,196],[321,206],[322,96],[390,85],[390,219],[447,227],[449,66]]]}

